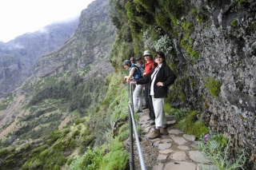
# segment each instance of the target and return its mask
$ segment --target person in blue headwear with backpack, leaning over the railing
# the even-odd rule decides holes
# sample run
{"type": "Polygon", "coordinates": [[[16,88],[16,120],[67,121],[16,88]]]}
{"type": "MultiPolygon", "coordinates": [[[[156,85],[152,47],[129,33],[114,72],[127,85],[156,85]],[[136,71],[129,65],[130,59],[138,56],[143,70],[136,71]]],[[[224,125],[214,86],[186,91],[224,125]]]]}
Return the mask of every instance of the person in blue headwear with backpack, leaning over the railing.
{"type": "MultiPolygon", "coordinates": [[[[131,61],[126,60],[123,62],[125,69],[129,69],[129,76],[125,76],[125,81],[137,81],[139,78],[142,78],[142,72],[138,69],[138,66],[131,63],[131,61]]],[[[142,85],[136,85],[133,93],[134,101],[134,112],[142,113],[142,85]]]]}

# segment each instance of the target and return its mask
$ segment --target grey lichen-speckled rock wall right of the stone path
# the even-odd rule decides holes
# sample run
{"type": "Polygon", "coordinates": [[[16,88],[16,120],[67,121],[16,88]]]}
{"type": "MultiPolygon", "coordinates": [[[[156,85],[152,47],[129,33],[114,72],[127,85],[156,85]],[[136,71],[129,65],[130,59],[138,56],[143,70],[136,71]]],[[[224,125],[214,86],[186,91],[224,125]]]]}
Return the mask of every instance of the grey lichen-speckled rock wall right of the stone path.
{"type": "Polygon", "coordinates": [[[214,131],[230,135],[234,148],[245,147],[250,164],[256,166],[256,2],[192,0],[189,4],[208,21],[195,22],[186,15],[194,25],[190,38],[200,53],[198,61],[190,64],[186,50],[173,39],[178,76],[188,80],[187,104],[201,110],[200,117],[214,131]],[[206,88],[209,82],[212,86],[206,88]],[[218,89],[216,82],[220,91],[214,97],[210,90],[218,89]]]}

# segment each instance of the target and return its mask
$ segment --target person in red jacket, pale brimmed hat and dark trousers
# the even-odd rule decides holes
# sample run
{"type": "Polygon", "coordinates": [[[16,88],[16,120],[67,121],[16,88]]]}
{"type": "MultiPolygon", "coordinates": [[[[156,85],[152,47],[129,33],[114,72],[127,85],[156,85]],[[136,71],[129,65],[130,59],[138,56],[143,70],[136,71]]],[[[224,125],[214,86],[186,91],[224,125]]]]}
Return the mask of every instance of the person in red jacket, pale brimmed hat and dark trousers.
{"type": "MultiPolygon", "coordinates": [[[[144,69],[144,73],[143,73],[143,77],[146,77],[148,73],[150,73],[150,71],[152,69],[154,69],[154,67],[157,65],[157,63],[155,63],[152,59],[152,55],[150,53],[149,50],[144,51],[143,53],[143,57],[145,58],[145,69],[144,69]]],[[[145,97],[145,101],[146,101],[146,107],[142,108],[142,109],[149,109],[149,119],[147,119],[147,121],[150,121],[150,125],[154,125],[154,108],[153,108],[153,104],[152,104],[152,98],[151,96],[148,94],[149,92],[149,84],[146,83],[145,84],[145,90],[144,90],[144,97],[145,97]]]]}

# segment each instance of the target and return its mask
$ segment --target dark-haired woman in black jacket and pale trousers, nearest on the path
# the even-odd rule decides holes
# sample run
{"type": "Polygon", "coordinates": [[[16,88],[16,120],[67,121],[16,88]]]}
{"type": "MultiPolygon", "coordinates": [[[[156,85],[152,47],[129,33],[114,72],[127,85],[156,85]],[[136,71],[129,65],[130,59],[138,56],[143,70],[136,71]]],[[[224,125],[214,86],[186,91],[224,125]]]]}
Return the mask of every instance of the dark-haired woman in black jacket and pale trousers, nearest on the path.
{"type": "Polygon", "coordinates": [[[153,133],[148,136],[150,140],[161,137],[161,135],[168,135],[166,114],[164,113],[163,107],[165,98],[167,97],[168,86],[174,84],[177,78],[170,67],[166,65],[164,53],[157,52],[155,59],[158,63],[157,67],[152,69],[146,77],[136,81],[130,81],[130,84],[134,85],[145,83],[149,83],[150,85],[149,93],[152,97],[155,114],[155,128],[153,133]]]}

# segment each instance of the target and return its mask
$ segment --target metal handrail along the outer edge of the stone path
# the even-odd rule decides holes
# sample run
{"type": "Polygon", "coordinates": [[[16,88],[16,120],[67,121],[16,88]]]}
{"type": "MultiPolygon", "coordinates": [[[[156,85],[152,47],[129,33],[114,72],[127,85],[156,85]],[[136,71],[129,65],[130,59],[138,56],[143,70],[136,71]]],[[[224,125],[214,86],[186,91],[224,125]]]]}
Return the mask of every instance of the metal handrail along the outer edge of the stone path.
{"type": "Polygon", "coordinates": [[[139,143],[137,128],[136,128],[136,124],[135,124],[132,86],[133,85],[130,85],[130,88],[129,88],[129,125],[130,125],[130,146],[131,146],[131,148],[130,148],[130,169],[134,169],[134,145],[133,145],[133,132],[132,132],[133,127],[134,127],[134,136],[135,136],[135,139],[137,142],[139,161],[140,161],[142,170],[146,170],[144,158],[142,155],[142,148],[139,143]]]}

